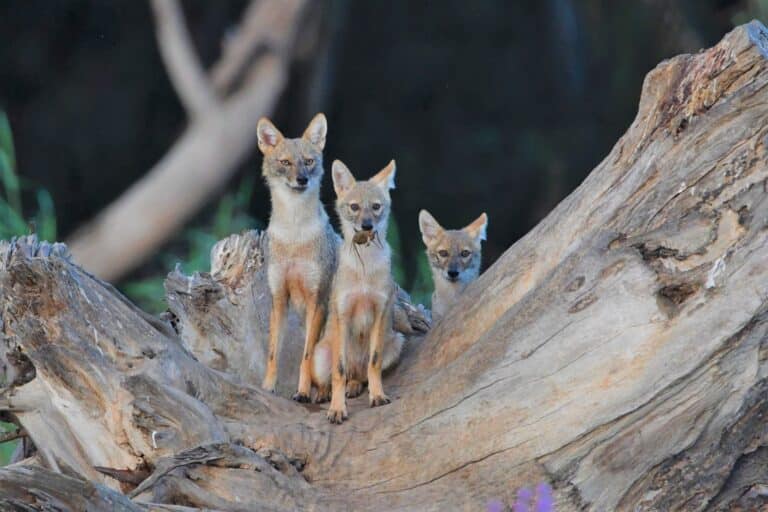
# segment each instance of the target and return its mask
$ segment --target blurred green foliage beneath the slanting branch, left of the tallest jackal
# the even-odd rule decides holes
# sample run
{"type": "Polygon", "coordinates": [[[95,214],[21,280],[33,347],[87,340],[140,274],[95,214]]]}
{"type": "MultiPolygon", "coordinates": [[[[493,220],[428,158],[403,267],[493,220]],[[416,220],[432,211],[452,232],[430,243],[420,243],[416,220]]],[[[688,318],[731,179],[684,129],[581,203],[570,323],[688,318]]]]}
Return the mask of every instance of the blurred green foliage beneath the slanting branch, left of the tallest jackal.
{"type": "Polygon", "coordinates": [[[211,267],[211,247],[232,233],[260,227],[251,217],[248,205],[254,190],[253,177],[243,179],[235,192],[221,198],[210,221],[202,226],[188,228],[180,240],[170,244],[175,250],[161,253],[157,259],[163,269],[158,275],[124,283],[121,288],[145,311],[160,313],[165,310],[165,277],[178,264],[186,274],[207,272],[211,267]]]}

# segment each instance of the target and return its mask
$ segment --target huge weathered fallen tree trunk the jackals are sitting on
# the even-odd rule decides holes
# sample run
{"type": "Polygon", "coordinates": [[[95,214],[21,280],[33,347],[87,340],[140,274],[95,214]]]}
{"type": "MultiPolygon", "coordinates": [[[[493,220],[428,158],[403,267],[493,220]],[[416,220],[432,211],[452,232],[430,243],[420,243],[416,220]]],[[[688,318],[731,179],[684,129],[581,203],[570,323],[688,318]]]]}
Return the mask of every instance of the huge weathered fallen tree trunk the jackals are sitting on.
{"type": "MultiPolygon", "coordinates": [[[[144,509],[478,510],[538,481],[558,510],[765,506],[766,56],[753,22],[652,71],[611,154],[409,340],[391,405],[352,400],[331,426],[249,385],[266,331],[254,233],[223,242],[210,276],[170,276],[168,323],[62,246],[0,248],[20,366],[0,409],[38,465],[144,509]]],[[[30,467],[0,470],[0,489],[42,508],[63,484],[30,467]]]]}

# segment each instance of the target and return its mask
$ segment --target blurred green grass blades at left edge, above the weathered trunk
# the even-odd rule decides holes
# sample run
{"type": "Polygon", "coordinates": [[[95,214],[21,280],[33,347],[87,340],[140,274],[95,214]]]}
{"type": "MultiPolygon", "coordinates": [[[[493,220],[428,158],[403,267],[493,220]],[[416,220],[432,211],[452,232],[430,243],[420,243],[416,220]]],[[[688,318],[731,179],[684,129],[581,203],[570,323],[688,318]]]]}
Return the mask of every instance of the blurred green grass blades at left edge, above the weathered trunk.
{"type": "Polygon", "coordinates": [[[36,193],[37,212],[29,219],[24,217],[22,191],[24,184],[16,172],[16,152],[8,116],[0,112],[0,239],[37,232],[42,240],[56,239],[56,212],[53,199],[47,190],[36,193]]]}

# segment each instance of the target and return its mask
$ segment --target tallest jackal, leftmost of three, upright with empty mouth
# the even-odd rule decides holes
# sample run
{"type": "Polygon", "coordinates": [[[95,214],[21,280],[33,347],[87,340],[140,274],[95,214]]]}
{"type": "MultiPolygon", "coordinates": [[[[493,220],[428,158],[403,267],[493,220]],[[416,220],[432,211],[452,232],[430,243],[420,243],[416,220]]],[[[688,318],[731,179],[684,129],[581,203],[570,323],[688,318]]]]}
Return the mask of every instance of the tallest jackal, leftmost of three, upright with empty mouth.
{"type": "Polygon", "coordinates": [[[338,235],[320,202],[323,148],[327,124],[317,114],[304,135],[286,139],[265,118],[257,127],[264,154],[264,178],[272,198],[267,227],[267,278],[272,293],[269,319],[269,357],[262,387],[275,390],[280,354],[280,333],[290,304],[304,312],[306,338],[293,399],[308,402],[312,387],[311,356],[326,318],[325,304],[336,267],[338,235]]]}

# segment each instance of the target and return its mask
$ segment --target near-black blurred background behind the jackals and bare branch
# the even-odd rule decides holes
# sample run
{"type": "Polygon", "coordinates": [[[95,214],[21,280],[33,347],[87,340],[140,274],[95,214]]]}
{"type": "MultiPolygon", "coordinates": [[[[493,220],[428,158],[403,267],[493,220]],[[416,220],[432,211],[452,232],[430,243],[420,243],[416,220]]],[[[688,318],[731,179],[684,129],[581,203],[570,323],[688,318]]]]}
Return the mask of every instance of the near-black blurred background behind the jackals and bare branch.
{"type": "MultiPolygon", "coordinates": [[[[325,86],[307,100],[296,69],[273,120],[296,136],[310,108],[325,111],[326,170],[340,158],[367,177],[396,158],[394,212],[405,255],[422,248],[419,209],[446,227],[486,211],[489,264],[609,152],[650,69],[711,46],[763,3],[335,1],[327,9],[334,39],[325,86]]],[[[183,5],[210,64],[246,2],[183,5]]],[[[164,155],[185,115],[146,2],[2,0],[0,34],[0,108],[11,120],[19,173],[51,192],[63,239],[164,155]]],[[[259,169],[255,151],[230,186],[259,169]]],[[[268,219],[260,182],[248,208],[268,219]]],[[[404,258],[411,280],[415,261],[404,258]]],[[[161,266],[150,262],[131,277],[161,266]]]]}

